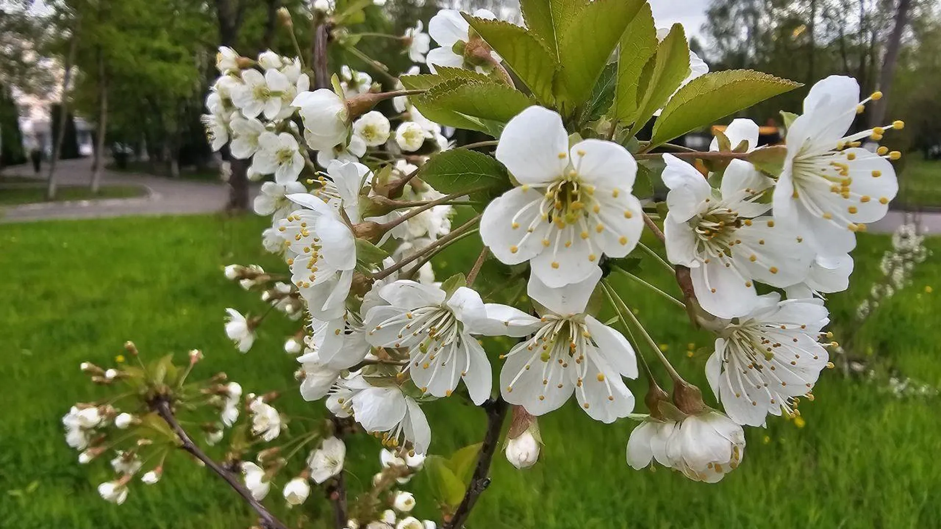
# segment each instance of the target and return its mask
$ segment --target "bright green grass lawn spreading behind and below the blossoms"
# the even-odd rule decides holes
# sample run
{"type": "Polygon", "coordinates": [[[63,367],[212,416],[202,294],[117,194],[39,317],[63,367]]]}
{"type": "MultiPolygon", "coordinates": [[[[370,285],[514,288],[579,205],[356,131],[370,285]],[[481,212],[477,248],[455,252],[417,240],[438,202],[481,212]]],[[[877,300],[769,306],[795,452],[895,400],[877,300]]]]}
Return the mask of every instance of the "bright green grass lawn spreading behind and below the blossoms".
{"type": "MultiPolygon", "coordinates": [[[[265,322],[246,355],[225,338],[226,307],[263,309],[256,295],[225,281],[221,266],[257,263],[278,270],[264,255],[258,218],[216,216],[122,218],[7,225],[0,231],[0,525],[18,529],[222,529],[247,527],[247,508],[215,476],[185,457],[167,463],[164,479],[145,488],[135,483],[124,505],[104,503],[97,483],[110,478],[104,462],[79,466],[63,440],[59,419],[73,402],[105,394],[79,373],[80,361],[113,365],[125,340],[152,357],[181,355],[199,347],[198,372],[225,370],[246,391],[293,388],[293,359],[281,351],[295,325],[265,322]],[[11,492],[12,491],[12,492],[11,492]]],[[[469,244],[472,244],[468,241],[469,244]]],[[[887,237],[860,237],[858,283],[879,274],[887,237]]],[[[935,255],[941,240],[930,243],[935,255]]],[[[445,255],[450,271],[466,271],[472,248],[455,245],[445,255]]],[[[647,265],[645,265],[647,266],[647,265]]],[[[652,268],[652,266],[650,266],[652,268]]],[[[941,273],[930,260],[914,284],[885,303],[862,329],[858,344],[890,359],[901,372],[941,385],[937,314],[941,299],[925,292],[941,273]]],[[[447,277],[440,273],[439,278],[447,277]]],[[[666,278],[658,284],[676,293],[666,278]]],[[[481,290],[501,285],[478,281],[481,290]]],[[[834,296],[837,322],[868,287],[834,296]]],[[[654,338],[683,374],[702,382],[707,355],[687,358],[689,343],[709,345],[688,329],[685,316],[625,284],[654,338]]],[[[844,328],[846,326],[844,325],[844,328]]],[[[648,353],[648,351],[645,351],[648,353]]],[[[494,357],[497,351],[493,351],[494,357]]],[[[499,361],[494,360],[494,368],[499,361]]],[[[635,393],[643,383],[630,384],[635,393]]],[[[704,385],[705,389],[706,386],[704,385]]],[[[708,390],[706,390],[708,393],[708,390]]],[[[322,405],[291,394],[276,407],[320,416],[322,405]]],[[[898,400],[875,387],[826,372],[802,404],[805,426],[771,418],[767,429],[749,428],[742,467],[716,485],[693,483],[678,473],[631,470],[625,446],[633,423],[601,425],[577,405],[540,420],[546,446],[539,464],[518,472],[495,458],[493,484],[470,519],[472,529],[610,529],[758,527],[930,528],[941,526],[941,423],[937,399],[898,400]]],[[[709,397],[711,399],[711,397],[709,397]]],[[[426,408],[433,430],[432,453],[450,454],[479,441],[483,414],[452,398],[426,408]]],[[[358,436],[348,451],[351,489],[361,490],[378,470],[378,442],[358,436]]],[[[219,456],[219,451],[212,452],[219,456]]],[[[409,485],[419,516],[435,517],[423,478],[409,485]]],[[[273,489],[269,503],[280,504],[273,489]]],[[[316,493],[304,506],[311,517],[327,516],[316,493]]],[[[290,516],[296,517],[298,509],[290,516]]],[[[294,520],[294,518],[289,518],[294,520]]],[[[329,527],[325,521],[314,527],[329,527]]]]}

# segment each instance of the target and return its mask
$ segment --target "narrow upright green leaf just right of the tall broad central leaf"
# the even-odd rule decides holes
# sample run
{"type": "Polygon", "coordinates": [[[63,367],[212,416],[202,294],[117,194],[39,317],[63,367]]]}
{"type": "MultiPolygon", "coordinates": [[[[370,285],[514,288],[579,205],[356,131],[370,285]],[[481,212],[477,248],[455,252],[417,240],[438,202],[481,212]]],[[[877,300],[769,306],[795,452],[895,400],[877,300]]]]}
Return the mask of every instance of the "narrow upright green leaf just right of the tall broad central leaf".
{"type": "Polygon", "coordinates": [[[657,52],[657,27],[650,5],[644,4],[621,37],[617,58],[614,118],[628,120],[637,112],[637,83],[647,61],[657,52]]]}

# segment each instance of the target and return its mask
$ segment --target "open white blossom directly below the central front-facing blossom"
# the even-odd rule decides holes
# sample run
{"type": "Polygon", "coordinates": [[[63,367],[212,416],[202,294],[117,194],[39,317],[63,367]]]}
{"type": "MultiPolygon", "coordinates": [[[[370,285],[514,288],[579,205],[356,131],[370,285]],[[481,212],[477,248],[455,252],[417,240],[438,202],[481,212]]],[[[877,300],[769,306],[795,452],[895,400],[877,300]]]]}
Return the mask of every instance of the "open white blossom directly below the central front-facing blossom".
{"type": "Polygon", "coordinates": [[[596,267],[582,282],[552,288],[530,276],[528,294],[547,312],[541,318],[515,318],[514,325],[533,329],[534,335],[506,354],[500,373],[503,400],[543,415],[575,393],[585,413],[602,423],[626,417],[634,408],[622,378],[637,377],[633,348],[621,333],[584,313],[600,278],[596,267]]]}

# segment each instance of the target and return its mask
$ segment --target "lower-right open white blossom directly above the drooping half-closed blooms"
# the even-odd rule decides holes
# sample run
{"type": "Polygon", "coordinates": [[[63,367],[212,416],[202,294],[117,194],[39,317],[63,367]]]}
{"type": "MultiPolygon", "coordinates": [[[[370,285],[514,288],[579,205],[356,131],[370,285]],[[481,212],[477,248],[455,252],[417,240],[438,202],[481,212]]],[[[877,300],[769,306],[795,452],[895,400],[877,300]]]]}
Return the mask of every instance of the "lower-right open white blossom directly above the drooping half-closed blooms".
{"type": "Polygon", "coordinates": [[[794,399],[810,393],[829,361],[818,342],[827,323],[820,299],[758,298],[752,313],[719,332],[706,374],[728,416],[759,426],[771,413],[791,413],[794,399]]]}

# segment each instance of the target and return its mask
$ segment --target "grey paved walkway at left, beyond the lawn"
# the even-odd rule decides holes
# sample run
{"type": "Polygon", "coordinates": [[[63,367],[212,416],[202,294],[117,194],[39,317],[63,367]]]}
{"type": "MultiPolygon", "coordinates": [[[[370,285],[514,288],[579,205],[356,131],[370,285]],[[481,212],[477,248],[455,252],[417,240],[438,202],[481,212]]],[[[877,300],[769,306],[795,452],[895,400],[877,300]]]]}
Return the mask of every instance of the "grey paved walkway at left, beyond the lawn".
{"type": "MultiPolygon", "coordinates": [[[[46,167],[43,167],[45,169],[46,167]]],[[[4,174],[31,177],[27,166],[4,169],[4,174]]],[[[40,173],[45,176],[45,171],[40,173]]],[[[91,160],[62,160],[56,164],[60,185],[88,185],[91,160]]],[[[43,178],[37,182],[45,183],[43,178]]],[[[193,182],[105,169],[102,185],[133,184],[147,189],[145,197],[133,199],[71,200],[40,202],[0,208],[0,222],[28,222],[52,218],[103,218],[135,215],[194,215],[215,213],[229,200],[229,185],[223,182],[193,182]]],[[[255,193],[255,189],[252,190],[255,193]]]]}

